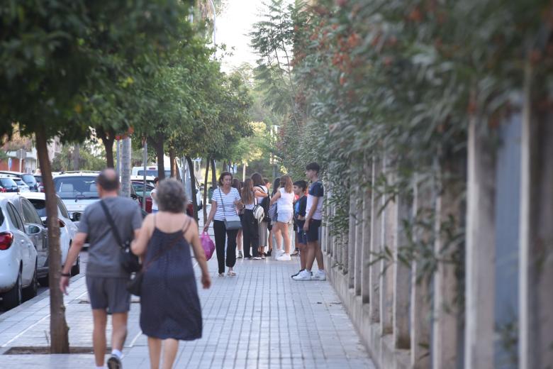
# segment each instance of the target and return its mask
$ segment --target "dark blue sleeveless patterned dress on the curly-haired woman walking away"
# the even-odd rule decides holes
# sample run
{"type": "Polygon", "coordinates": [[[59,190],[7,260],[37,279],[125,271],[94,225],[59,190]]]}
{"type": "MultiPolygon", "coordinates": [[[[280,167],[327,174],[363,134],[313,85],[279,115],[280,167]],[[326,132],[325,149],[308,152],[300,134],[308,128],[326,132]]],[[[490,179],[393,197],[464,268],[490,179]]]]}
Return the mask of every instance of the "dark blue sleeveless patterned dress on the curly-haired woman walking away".
{"type": "Polygon", "coordinates": [[[201,338],[200,299],[184,232],[165,233],[156,227],[148,243],[140,297],[140,328],[146,336],[201,338]]]}

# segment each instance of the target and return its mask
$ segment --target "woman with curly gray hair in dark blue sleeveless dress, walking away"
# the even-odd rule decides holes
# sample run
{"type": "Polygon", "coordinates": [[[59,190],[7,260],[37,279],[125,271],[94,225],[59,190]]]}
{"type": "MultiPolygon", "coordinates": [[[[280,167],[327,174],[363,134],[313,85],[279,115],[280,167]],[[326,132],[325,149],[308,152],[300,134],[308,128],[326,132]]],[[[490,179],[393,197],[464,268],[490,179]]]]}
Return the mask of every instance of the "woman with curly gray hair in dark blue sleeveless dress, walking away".
{"type": "Polygon", "coordinates": [[[177,180],[163,180],[157,188],[156,214],[144,219],[132,249],[143,258],[140,328],[148,337],[152,368],[172,368],[179,340],[201,338],[201,306],[192,267],[190,246],[201,269],[201,284],[209,288],[206,254],[198,225],[184,214],[186,196],[177,180]]]}

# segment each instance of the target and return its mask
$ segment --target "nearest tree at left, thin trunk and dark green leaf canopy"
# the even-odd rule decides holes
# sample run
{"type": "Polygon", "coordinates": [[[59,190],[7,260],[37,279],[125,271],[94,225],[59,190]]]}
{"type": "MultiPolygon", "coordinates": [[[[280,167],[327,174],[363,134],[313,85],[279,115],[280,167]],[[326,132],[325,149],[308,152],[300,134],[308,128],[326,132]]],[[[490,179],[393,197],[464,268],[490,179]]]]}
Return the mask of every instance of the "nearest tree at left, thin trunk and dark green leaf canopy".
{"type": "MultiPolygon", "coordinates": [[[[180,1],[6,1],[0,5],[0,134],[13,123],[35,134],[43,175],[50,246],[50,351],[68,353],[68,328],[60,280],[57,202],[47,143],[82,141],[91,85],[110,80],[98,41],[161,45],[186,14],[180,1]]],[[[154,55],[150,55],[153,57],[154,55]]],[[[93,89],[98,91],[98,89],[93,89]]]]}

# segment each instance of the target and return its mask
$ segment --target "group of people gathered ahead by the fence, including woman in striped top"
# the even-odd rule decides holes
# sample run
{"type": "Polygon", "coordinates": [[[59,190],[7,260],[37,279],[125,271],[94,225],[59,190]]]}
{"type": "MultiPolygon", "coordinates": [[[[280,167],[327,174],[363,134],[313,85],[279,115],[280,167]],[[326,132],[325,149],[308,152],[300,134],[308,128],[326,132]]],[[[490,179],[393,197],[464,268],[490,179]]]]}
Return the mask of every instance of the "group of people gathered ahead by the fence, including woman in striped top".
{"type": "Polygon", "coordinates": [[[320,182],[320,166],[306,165],[305,180],[292,182],[289,175],[271,182],[254,173],[244,182],[233,178],[232,173],[221,173],[218,188],[211,196],[211,211],[203,231],[213,222],[219,277],[236,275],[237,258],[263,260],[272,257],[289,261],[299,255],[300,270],[292,275],[294,280],[325,280],[323,253],[320,250],[319,230],[322,221],[324,187],[320,182]],[[262,206],[262,217],[256,217],[255,208],[262,206]],[[270,210],[269,210],[270,209],[270,210]],[[228,216],[240,216],[241,228],[227,228],[228,216]],[[291,237],[290,227],[294,228],[291,237]],[[294,238],[294,251],[291,243],[294,238]],[[242,250],[240,248],[242,241],[242,250]],[[276,249],[276,250],[274,250],[276,249]],[[312,271],[317,260],[318,270],[312,271]]]}

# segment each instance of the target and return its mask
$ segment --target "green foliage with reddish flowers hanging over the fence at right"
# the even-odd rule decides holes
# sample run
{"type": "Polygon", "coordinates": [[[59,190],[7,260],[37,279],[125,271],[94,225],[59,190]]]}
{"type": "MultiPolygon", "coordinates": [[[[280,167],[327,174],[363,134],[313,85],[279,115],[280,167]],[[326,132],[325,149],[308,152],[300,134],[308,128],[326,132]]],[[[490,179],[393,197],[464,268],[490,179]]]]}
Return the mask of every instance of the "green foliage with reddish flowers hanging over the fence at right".
{"type": "MultiPolygon", "coordinates": [[[[319,0],[283,10],[274,0],[267,9],[279,6],[279,16],[266,11],[264,28],[252,33],[264,56],[257,77],[269,106],[301,117],[283,120],[281,162],[294,175],[308,161],[323,166],[332,191],[326,205],[334,211],[325,221],[337,238],[347,235],[350,195],[359,189],[386,201],[410,196],[413,185],[437,194],[455,188],[462,197],[469,121],[493,138],[502,119],[519,109],[525,65],[536,71],[526,82],[535,86],[537,104],[548,104],[547,1],[319,0]],[[274,31],[277,25],[284,26],[274,31]],[[293,45],[290,83],[267,57],[277,50],[272,35],[293,45]],[[374,183],[359,177],[367,160],[383,158],[386,170],[374,183]]],[[[408,219],[410,234],[425,237],[401,246],[399,258],[420,262],[420,280],[438,263],[453,263],[462,283],[461,211],[437,226],[435,215],[432,208],[423,219],[408,219]],[[443,248],[435,251],[438,237],[443,248]]]]}

